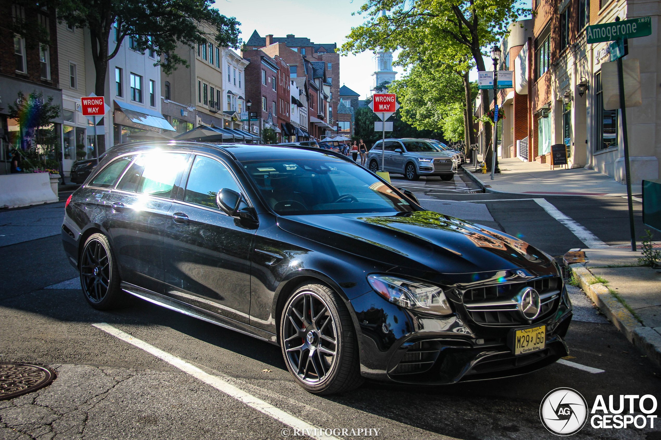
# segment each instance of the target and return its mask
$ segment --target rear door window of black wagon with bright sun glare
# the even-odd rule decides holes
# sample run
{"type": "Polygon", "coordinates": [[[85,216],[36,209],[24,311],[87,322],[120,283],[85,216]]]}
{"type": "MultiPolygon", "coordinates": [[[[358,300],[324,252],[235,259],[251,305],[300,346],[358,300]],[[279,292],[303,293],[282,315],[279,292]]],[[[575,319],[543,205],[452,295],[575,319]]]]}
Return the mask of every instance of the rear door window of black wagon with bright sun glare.
{"type": "Polygon", "coordinates": [[[177,175],[186,166],[186,154],[141,154],[124,174],[117,189],[170,197],[177,175]]]}

